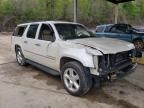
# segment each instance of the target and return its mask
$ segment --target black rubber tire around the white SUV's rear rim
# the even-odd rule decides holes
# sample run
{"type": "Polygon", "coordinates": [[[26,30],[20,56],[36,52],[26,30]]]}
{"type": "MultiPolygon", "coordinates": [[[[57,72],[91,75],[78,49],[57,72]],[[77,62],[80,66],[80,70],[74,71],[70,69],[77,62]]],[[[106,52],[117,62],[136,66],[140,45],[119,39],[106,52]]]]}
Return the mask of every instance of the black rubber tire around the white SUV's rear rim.
{"type": "Polygon", "coordinates": [[[19,48],[19,47],[16,48],[16,60],[17,60],[17,63],[18,63],[20,66],[26,66],[26,65],[27,65],[26,59],[25,59],[25,57],[24,57],[24,55],[23,55],[23,53],[22,53],[21,48],[19,48]],[[19,61],[19,58],[18,58],[19,54],[21,55],[21,62],[19,61]]]}

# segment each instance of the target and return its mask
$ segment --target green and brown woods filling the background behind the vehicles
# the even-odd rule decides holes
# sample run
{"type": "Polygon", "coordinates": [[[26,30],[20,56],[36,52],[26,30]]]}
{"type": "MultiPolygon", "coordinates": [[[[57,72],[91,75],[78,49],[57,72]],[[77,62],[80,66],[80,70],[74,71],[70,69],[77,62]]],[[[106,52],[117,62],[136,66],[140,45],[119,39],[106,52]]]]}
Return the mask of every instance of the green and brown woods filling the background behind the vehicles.
{"type": "MultiPolygon", "coordinates": [[[[78,0],[78,21],[85,24],[113,23],[115,6],[106,0],[78,0]]],[[[119,5],[119,21],[143,21],[144,0],[119,5]]],[[[0,24],[5,17],[20,23],[35,20],[73,20],[73,0],[0,0],[0,24]]]]}

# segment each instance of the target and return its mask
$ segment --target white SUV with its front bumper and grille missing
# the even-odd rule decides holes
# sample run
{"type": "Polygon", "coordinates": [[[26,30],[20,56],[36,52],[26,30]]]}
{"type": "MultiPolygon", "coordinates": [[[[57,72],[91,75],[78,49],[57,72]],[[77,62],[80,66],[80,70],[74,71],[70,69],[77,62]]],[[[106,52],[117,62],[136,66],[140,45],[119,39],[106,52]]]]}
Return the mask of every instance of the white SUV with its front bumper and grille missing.
{"type": "Polygon", "coordinates": [[[32,64],[52,75],[61,75],[74,96],[86,94],[100,78],[126,75],[134,70],[134,45],[96,38],[77,23],[44,21],[20,24],[12,36],[19,65],[32,64]]]}

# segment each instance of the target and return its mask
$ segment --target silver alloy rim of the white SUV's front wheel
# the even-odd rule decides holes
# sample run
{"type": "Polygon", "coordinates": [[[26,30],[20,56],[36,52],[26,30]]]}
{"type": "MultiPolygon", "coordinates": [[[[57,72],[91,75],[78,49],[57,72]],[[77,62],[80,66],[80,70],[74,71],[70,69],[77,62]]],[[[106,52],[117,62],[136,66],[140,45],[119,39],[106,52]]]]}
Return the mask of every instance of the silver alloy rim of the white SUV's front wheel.
{"type": "Polygon", "coordinates": [[[65,86],[72,92],[76,92],[80,88],[80,78],[73,68],[67,68],[64,71],[65,86]]]}

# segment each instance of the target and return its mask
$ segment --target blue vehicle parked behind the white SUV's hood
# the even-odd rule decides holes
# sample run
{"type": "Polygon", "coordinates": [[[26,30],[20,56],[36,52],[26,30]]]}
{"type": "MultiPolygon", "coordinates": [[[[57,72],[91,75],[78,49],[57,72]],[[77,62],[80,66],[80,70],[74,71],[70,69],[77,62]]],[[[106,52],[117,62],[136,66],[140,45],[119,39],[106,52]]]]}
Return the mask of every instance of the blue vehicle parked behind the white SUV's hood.
{"type": "Polygon", "coordinates": [[[96,26],[97,37],[108,37],[134,43],[136,48],[144,49],[144,32],[129,24],[106,24],[96,26]]]}

